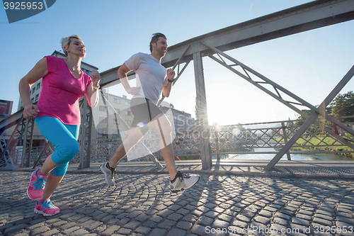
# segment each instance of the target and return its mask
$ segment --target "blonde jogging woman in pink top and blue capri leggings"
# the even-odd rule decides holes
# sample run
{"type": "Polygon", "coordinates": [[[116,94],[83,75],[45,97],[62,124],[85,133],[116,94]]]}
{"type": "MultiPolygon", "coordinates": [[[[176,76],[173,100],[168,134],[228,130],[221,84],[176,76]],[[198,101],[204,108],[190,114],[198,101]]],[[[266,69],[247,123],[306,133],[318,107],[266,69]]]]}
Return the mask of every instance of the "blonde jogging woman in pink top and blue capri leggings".
{"type": "Polygon", "coordinates": [[[96,71],[91,79],[81,70],[86,48],[78,35],[62,38],[62,49],[66,58],[43,57],[19,83],[23,117],[34,117],[40,133],[55,145],[55,152],[47,157],[42,168],[32,173],[27,189],[28,197],[37,200],[35,212],[46,216],[59,213],[50,196],[66,174],[69,161],[79,152],[79,99],[85,94],[89,106],[96,106],[101,79],[96,71]],[[33,105],[30,87],[40,78],[40,99],[33,105]]]}

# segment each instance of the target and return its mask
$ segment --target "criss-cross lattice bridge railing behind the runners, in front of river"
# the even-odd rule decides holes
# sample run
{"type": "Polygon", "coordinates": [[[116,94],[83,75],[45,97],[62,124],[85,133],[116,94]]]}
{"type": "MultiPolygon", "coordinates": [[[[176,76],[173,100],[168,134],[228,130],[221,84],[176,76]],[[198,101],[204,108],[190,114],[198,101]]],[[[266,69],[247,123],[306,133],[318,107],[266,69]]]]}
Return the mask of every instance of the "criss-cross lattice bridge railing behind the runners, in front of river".
{"type": "MultiPolygon", "coordinates": [[[[352,116],[349,116],[351,118],[352,116]]],[[[354,116],[353,116],[354,117],[354,116]]],[[[319,120],[321,123],[321,120],[319,120]]],[[[350,135],[341,128],[333,127],[333,123],[321,123],[322,125],[335,130],[338,135],[344,137],[349,142],[354,142],[353,135],[350,135]]],[[[344,123],[353,128],[354,122],[344,123]]],[[[210,146],[213,156],[220,157],[222,154],[276,154],[288,140],[301,127],[302,120],[283,120],[269,123],[247,123],[238,125],[212,125],[210,126],[210,146]],[[268,150],[267,150],[268,149],[268,150]],[[261,151],[260,151],[261,150],[261,151]]],[[[353,153],[350,148],[341,151],[334,150],[333,147],[346,146],[341,140],[324,131],[324,126],[311,125],[309,129],[299,137],[288,152],[288,159],[291,153],[353,153]]],[[[183,159],[199,159],[200,154],[200,134],[198,127],[187,130],[176,135],[173,140],[173,151],[183,159]]],[[[206,133],[204,135],[207,135],[206,133]]],[[[154,135],[152,135],[154,137],[154,135]]],[[[115,153],[122,140],[106,139],[94,140],[91,143],[91,162],[103,162],[115,153]]],[[[159,135],[155,138],[145,139],[144,145],[156,147],[159,145],[159,135]]],[[[154,152],[157,157],[161,157],[160,152],[154,152]]],[[[80,154],[77,154],[72,162],[79,162],[80,154]]],[[[144,154],[141,155],[144,157],[144,154]]]]}

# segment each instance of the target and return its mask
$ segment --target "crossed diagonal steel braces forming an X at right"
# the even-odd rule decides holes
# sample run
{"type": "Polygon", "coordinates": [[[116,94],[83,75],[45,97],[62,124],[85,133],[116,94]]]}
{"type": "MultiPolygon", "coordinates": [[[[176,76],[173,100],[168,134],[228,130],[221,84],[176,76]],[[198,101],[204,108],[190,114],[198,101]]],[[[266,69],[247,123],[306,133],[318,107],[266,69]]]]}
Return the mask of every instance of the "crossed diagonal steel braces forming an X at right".
{"type": "MultiPolygon", "coordinates": [[[[245,79],[247,82],[250,82],[254,86],[258,87],[258,89],[261,89],[265,93],[269,94],[272,96],[274,99],[277,99],[281,103],[285,104],[285,106],[292,108],[292,110],[296,111],[299,113],[302,117],[307,118],[306,122],[303,127],[299,128],[297,130],[297,133],[292,137],[289,142],[287,142],[287,146],[283,147],[280,152],[274,157],[274,159],[265,167],[265,170],[269,170],[271,167],[273,167],[279,160],[280,158],[288,152],[290,147],[296,142],[296,140],[302,135],[308,128],[309,125],[312,123],[316,123],[319,126],[323,126],[319,124],[316,119],[318,118],[319,115],[321,115],[324,119],[329,120],[335,127],[341,128],[346,131],[346,134],[349,133],[350,135],[354,135],[354,130],[352,128],[349,128],[348,126],[344,125],[343,123],[339,122],[335,118],[329,116],[328,114],[325,113],[326,106],[331,103],[331,101],[336,97],[336,95],[343,89],[343,87],[349,82],[349,80],[354,76],[354,66],[349,70],[349,72],[346,74],[345,77],[339,82],[339,84],[333,89],[331,94],[327,96],[327,98],[324,100],[323,103],[321,103],[321,110],[319,108],[316,108],[312,104],[308,103],[307,101],[304,101],[304,99],[299,98],[295,94],[292,94],[290,91],[287,89],[284,89],[282,86],[275,84],[275,82],[272,82],[270,79],[267,77],[264,77],[262,74],[256,72],[255,70],[251,69],[250,67],[247,67],[245,64],[242,64],[238,60],[234,59],[233,57],[230,57],[226,53],[222,52],[221,50],[218,50],[216,47],[212,47],[210,45],[207,45],[206,43],[202,43],[202,45],[205,45],[205,47],[209,47],[212,49],[214,52],[216,52],[217,57],[215,55],[209,55],[209,57],[212,60],[215,60],[215,62],[218,62],[219,64],[222,64],[222,66],[226,67],[227,69],[231,70],[235,74],[239,75],[239,77],[245,79]],[[227,63],[227,61],[230,61],[231,63],[227,63]],[[270,91],[267,89],[265,86],[271,86],[273,87],[274,91],[270,91]],[[295,101],[287,101],[283,99],[283,96],[290,96],[290,98],[294,99],[295,101]],[[309,108],[313,111],[312,116],[308,116],[304,111],[301,109],[297,108],[296,106],[303,106],[306,108],[309,108]]],[[[348,138],[344,138],[341,136],[340,133],[336,133],[334,129],[330,129],[328,127],[324,127],[324,130],[329,133],[330,135],[333,135],[333,137],[338,138],[341,142],[346,144],[348,147],[351,147],[354,150],[354,143],[349,142],[348,138]]],[[[347,136],[348,137],[348,136],[347,136]]]]}

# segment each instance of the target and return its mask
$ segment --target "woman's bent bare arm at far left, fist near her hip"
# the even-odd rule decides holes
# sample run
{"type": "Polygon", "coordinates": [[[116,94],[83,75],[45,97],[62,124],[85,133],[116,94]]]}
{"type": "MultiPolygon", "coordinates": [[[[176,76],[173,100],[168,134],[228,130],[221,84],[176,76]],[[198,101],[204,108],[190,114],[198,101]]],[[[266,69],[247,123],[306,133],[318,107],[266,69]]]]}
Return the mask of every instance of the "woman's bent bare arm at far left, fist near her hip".
{"type": "Polygon", "coordinates": [[[43,57],[18,84],[18,90],[20,91],[24,108],[23,117],[25,119],[30,119],[39,112],[37,105],[33,105],[32,101],[30,101],[30,87],[37,82],[38,79],[45,77],[47,74],[47,58],[43,57]]]}

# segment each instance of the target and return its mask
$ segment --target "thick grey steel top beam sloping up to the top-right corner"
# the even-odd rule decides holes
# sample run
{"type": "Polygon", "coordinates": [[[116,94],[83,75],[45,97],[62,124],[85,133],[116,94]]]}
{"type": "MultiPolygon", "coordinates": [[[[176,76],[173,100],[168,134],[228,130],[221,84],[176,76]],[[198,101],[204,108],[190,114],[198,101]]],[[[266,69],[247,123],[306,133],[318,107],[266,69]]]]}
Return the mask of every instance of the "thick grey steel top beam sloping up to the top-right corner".
{"type": "Polygon", "coordinates": [[[213,52],[200,45],[200,42],[227,51],[353,19],[353,0],[312,1],[173,45],[162,58],[161,64],[171,67],[187,47],[190,49],[181,62],[190,60],[195,52],[200,52],[202,56],[212,55],[213,52]]]}

